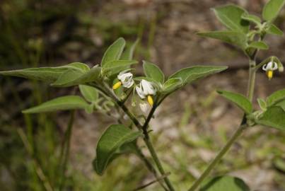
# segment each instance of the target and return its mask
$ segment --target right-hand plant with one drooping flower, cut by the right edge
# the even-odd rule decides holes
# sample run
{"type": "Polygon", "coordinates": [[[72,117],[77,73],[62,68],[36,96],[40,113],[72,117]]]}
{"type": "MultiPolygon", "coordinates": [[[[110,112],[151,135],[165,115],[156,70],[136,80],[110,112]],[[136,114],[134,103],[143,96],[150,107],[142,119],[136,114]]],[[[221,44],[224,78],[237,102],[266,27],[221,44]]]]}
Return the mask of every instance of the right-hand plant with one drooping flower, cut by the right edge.
{"type": "MultiPolygon", "coordinates": [[[[221,160],[226,151],[230,149],[233,142],[240,137],[240,134],[249,127],[262,125],[264,127],[273,127],[285,130],[285,89],[276,91],[265,100],[258,98],[260,110],[255,110],[252,106],[252,100],[255,90],[256,72],[260,69],[271,80],[275,71],[283,71],[284,67],[277,57],[269,57],[261,63],[256,63],[257,54],[260,50],[267,50],[269,46],[264,42],[266,35],[283,35],[283,32],[274,25],[281,8],[284,6],[284,0],[269,0],[262,9],[262,18],[248,13],[244,8],[233,4],[219,6],[214,8],[216,18],[226,27],[226,30],[210,31],[198,33],[202,37],[211,37],[223,42],[235,45],[249,59],[249,79],[248,93],[243,96],[239,93],[230,91],[218,91],[224,98],[235,103],[243,110],[244,115],[240,127],[235,131],[231,139],[221,149],[219,154],[209,164],[204,173],[196,180],[190,191],[194,191],[201,185],[203,180],[209,175],[211,170],[221,160]]],[[[249,190],[242,180],[242,184],[233,181],[231,177],[214,178],[204,183],[202,190],[249,190]]]]}

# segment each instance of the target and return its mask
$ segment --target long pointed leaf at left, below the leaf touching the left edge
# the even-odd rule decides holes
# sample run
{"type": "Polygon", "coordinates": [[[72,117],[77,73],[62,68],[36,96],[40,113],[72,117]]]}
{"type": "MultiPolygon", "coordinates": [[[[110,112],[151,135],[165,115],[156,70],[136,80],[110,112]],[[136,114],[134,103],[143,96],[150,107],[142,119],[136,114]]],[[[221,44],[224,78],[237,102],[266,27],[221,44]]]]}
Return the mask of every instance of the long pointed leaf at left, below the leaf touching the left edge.
{"type": "Polygon", "coordinates": [[[88,103],[79,96],[62,96],[37,105],[23,113],[53,112],[57,110],[76,110],[88,108],[88,103]]]}

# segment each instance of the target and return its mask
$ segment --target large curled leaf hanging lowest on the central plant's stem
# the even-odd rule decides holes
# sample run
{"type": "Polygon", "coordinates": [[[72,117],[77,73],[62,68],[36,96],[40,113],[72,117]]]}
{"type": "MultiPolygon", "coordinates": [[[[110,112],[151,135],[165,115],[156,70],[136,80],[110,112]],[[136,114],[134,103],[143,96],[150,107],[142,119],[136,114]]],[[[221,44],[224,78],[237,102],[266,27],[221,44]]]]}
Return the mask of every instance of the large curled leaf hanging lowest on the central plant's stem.
{"type": "Polygon", "coordinates": [[[123,144],[132,142],[142,136],[142,132],[134,132],[124,125],[110,125],[100,137],[96,148],[94,168],[96,173],[103,175],[108,161],[123,144]]]}

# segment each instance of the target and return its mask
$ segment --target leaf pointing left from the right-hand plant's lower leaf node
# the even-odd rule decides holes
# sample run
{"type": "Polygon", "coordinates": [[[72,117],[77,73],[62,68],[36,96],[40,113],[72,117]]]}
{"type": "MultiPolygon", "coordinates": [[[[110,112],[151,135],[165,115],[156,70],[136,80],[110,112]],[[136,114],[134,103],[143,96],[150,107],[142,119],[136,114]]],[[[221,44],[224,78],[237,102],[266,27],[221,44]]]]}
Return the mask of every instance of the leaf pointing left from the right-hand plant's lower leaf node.
{"type": "Polygon", "coordinates": [[[231,100],[238,108],[242,109],[246,114],[252,112],[252,104],[250,100],[239,93],[233,93],[231,91],[217,91],[224,98],[231,100]]]}

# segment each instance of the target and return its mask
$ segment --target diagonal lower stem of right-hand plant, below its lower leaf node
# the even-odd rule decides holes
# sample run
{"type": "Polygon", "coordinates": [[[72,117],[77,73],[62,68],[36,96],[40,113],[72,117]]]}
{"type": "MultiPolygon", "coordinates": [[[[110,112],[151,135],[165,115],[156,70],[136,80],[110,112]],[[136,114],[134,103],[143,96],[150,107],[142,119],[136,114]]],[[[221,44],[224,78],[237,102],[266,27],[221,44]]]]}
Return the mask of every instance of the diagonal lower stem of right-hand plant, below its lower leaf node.
{"type": "Polygon", "coordinates": [[[216,156],[216,158],[214,158],[214,160],[211,161],[209,166],[206,168],[206,170],[204,170],[202,175],[195,181],[194,185],[192,185],[189,191],[194,191],[197,189],[197,187],[202,183],[202,181],[207,177],[207,175],[209,175],[209,173],[216,166],[216,164],[219,163],[219,161],[221,161],[221,158],[223,158],[228,149],[231,148],[235,140],[238,139],[238,137],[240,137],[240,134],[242,134],[245,127],[246,127],[245,125],[240,125],[240,127],[238,127],[238,129],[235,131],[231,139],[229,139],[226,145],[223,146],[223,148],[221,149],[221,151],[219,151],[219,154],[216,156]]]}

